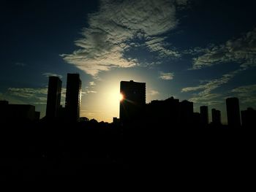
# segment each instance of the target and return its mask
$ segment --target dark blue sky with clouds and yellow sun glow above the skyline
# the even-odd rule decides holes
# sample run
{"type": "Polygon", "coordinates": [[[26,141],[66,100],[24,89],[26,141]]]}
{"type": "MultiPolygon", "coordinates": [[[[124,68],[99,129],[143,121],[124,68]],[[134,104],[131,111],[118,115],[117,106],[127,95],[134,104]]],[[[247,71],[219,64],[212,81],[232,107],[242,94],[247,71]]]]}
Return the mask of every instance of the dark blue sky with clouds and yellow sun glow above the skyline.
{"type": "Polygon", "coordinates": [[[146,102],[174,96],[222,112],[256,109],[256,1],[2,0],[0,99],[45,115],[48,77],[82,80],[80,116],[112,122],[121,80],[146,102]]]}

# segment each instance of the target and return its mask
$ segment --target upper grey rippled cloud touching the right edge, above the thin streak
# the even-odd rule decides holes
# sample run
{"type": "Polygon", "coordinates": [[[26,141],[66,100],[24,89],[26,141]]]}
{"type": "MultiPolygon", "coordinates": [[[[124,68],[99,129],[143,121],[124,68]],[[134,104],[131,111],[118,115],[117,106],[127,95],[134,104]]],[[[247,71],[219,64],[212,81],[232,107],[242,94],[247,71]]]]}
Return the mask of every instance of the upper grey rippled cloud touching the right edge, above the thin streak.
{"type": "MultiPolygon", "coordinates": [[[[236,62],[256,66],[256,28],[238,39],[230,39],[225,45],[211,45],[204,49],[198,49],[203,55],[193,58],[192,69],[236,62]]],[[[242,67],[242,66],[241,66],[242,67]]]]}

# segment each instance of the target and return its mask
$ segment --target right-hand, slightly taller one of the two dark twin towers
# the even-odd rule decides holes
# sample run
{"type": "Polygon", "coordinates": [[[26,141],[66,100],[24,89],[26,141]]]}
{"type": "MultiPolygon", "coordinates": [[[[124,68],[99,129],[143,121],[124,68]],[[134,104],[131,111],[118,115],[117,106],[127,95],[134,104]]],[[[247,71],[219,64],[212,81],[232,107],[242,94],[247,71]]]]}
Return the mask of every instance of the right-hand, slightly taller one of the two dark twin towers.
{"type": "Polygon", "coordinates": [[[81,80],[79,74],[67,74],[66,119],[78,122],[80,118],[81,80]]]}

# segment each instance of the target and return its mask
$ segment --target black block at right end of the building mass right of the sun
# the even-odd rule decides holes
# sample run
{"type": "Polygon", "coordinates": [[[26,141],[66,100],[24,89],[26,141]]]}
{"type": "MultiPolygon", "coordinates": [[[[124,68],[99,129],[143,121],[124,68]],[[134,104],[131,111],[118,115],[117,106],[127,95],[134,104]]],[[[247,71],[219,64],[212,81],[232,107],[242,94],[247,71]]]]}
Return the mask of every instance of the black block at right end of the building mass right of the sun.
{"type": "Polygon", "coordinates": [[[181,101],[179,115],[181,125],[191,126],[194,116],[193,102],[187,100],[181,101]]]}

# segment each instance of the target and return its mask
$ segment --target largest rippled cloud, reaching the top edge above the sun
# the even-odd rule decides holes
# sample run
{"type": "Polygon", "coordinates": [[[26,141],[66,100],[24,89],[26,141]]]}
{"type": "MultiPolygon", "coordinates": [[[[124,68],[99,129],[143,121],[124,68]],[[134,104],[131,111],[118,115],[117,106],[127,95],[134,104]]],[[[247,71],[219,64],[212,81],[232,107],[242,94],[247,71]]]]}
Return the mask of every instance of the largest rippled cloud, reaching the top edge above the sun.
{"type": "Polygon", "coordinates": [[[176,28],[176,9],[186,5],[184,0],[102,0],[99,11],[89,15],[83,37],[75,41],[78,50],[61,56],[94,77],[117,67],[139,66],[136,58],[125,56],[136,39],[144,40],[160,56],[178,57],[159,36],[176,28]]]}

